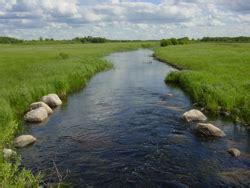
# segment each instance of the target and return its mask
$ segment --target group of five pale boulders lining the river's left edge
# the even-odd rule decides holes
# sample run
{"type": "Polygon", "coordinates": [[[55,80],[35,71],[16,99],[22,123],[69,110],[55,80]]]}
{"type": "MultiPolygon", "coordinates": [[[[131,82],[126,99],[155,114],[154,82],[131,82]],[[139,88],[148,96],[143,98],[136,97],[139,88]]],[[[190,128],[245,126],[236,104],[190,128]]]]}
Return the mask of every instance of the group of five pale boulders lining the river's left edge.
{"type": "MultiPolygon", "coordinates": [[[[32,103],[28,112],[24,115],[24,120],[32,123],[43,122],[53,113],[53,108],[62,105],[61,99],[56,94],[48,94],[41,98],[41,101],[32,103]]],[[[16,148],[26,147],[34,143],[37,139],[32,135],[21,135],[15,138],[14,146],[16,148]]],[[[3,155],[6,160],[10,160],[16,155],[16,152],[4,148],[3,155]]]]}

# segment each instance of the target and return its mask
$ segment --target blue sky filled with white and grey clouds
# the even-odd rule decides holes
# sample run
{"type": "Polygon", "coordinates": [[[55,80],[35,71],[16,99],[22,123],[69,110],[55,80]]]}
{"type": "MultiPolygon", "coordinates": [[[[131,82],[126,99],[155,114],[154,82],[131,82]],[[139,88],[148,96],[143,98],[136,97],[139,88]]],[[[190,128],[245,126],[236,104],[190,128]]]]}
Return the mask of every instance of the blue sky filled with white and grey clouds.
{"type": "Polygon", "coordinates": [[[250,36],[250,0],[0,0],[0,36],[250,36]]]}

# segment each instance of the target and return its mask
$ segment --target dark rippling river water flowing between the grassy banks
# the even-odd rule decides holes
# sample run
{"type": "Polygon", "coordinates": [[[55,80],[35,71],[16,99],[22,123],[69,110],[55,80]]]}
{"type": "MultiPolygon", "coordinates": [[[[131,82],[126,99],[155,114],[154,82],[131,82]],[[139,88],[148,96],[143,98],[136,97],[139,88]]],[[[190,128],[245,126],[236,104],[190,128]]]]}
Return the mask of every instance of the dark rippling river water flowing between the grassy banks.
{"type": "Polygon", "coordinates": [[[62,177],[68,171],[62,179],[73,187],[226,187],[219,172],[250,169],[249,131],[210,119],[227,137],[194,135],[193,124],[180,118],[191,108],[189,99],[164,83],[173,69],[151,55],[150,50],[110,55],[113,70],[69,96],[47,122],[27,125],[38,141],[20,150],[23,165],[42,170],[45,183],[53,183],[59,181],[56,164],[62,177]],[[241,149],[242,156],[231,157],[230,147],[241,149]]]}

